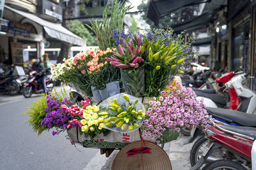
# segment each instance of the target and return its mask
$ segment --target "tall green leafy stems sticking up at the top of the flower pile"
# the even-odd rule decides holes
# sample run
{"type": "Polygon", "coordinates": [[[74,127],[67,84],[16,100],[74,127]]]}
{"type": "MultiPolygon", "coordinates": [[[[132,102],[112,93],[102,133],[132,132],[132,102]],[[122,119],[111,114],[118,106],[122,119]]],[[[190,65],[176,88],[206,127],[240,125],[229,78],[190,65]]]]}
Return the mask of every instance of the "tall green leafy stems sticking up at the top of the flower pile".
{"type": "Polygon", "coordinates": [[[111,10],[111,17],[108,18],[109,14],[109,3],[106,5],[104,13],[102,15],[103,22],[99,20],[93,20],[91,26],[87,25],[96,34],[99,40],[99,47],[101,50],[106,50],[106,48],[115,47],[114,39],[109,36],[114,30],[118,31],[118,34],[123,29],[124,25],[124,15],[131,9],[131,6],[125,7],[125,2],[116,3],[114,1],[111,10]]]}

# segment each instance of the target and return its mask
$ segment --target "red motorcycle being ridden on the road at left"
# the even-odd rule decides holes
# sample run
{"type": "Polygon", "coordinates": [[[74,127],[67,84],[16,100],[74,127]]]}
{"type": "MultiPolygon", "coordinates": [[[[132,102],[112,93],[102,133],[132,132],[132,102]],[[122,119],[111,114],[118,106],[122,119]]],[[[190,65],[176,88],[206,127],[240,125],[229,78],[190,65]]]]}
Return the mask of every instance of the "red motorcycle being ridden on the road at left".
{"type": "Polygon", "coordinates": [[[38,81],[36,80],[38,74],[36,71],[30,71],[28,75],[28,81],[24,85],[22,91],[24,97],[31,97],[32,94],[40,94],[42,92],[49,94],[52,91],[53,81],[51,74],[46,74],[44,76],[44,90],[38,90],[38,81]]]}

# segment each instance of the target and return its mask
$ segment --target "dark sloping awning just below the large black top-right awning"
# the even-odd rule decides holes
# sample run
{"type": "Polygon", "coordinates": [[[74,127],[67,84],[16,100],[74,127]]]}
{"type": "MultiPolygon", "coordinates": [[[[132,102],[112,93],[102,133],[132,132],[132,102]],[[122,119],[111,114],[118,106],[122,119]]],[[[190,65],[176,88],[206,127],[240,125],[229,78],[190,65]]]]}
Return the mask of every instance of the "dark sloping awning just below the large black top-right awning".
{"type": "Polygon", "coordinates": [[[209,25],[216,11],[209,11],[179,24],[171,25],[174,31],[195,31],[209,25]]]}

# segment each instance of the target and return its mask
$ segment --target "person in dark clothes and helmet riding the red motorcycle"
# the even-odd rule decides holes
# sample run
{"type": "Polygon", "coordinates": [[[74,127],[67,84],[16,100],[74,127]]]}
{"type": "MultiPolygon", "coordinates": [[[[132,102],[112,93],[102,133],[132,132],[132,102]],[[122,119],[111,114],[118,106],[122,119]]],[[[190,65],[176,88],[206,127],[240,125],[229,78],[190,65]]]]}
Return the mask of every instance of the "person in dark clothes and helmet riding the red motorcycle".
{"type": "Polygon", "coordinates": [[[36,79],[38,80],[38,91],[42,90],[42,91],[46,92],[45,81],[44,81],[45,69],[44,69],[44,66],[41,64],[40,59],[35,60],[32,69],[37,72],[36,79]]]}

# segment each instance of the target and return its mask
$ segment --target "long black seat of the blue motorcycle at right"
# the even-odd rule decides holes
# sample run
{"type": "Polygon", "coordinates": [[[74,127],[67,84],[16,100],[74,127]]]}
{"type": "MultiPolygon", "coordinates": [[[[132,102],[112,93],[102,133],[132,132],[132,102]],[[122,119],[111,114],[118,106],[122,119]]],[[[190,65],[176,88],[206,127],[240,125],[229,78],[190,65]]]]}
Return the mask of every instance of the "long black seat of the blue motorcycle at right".
{"type": "Polygon", "coordinates": [[[242,126],[252,126],[256,127],[256,115],[249,113],[244,113],[242,111],[228,110],[221,108],[209,108],[206,110],[209,112],[212,117],[220,118],[229,123],[236,123],[242,126]]]}

